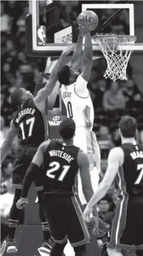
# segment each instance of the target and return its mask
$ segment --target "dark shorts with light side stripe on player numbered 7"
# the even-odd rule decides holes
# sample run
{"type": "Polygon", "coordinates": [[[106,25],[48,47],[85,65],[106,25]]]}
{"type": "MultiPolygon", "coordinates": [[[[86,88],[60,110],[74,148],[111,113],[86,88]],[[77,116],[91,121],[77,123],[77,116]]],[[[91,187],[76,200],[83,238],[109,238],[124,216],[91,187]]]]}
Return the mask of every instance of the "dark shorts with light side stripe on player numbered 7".
{"type": "Polygon", "coordinates": [[[112,223],[109,248],[143,249],[143,195],[118,200],[112,223]]]}

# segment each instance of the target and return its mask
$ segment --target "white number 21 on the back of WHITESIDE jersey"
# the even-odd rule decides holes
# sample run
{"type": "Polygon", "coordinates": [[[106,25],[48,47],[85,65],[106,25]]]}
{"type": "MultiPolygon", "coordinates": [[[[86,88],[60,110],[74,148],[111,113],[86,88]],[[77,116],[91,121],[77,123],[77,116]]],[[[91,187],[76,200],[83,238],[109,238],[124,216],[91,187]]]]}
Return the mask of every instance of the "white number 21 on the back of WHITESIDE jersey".
{"type": "MultiPolygon", "coordinates": [[[[55,172],[61,168],[61,165],[59,164],[59,162],[52,162],[49,164],[49,167],[52,167],[52,169],[47,170],[46,175],[52,179],[55,179],[56,178],[55,172]]],[[[57,180],[63,181],[64,177],[66,176],[69,169],[70,169],[70,165],[63,165],[62,172],[61,172],[60,176],[57,178],[57,180]]]]}

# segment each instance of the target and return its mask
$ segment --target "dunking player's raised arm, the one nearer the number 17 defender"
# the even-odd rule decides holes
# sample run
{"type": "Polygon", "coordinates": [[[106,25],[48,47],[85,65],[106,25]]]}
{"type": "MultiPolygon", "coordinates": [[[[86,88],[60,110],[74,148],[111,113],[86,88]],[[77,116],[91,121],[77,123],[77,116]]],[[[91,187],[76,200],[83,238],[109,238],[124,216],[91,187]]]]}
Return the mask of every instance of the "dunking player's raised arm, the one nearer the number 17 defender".
{"type": "Polygon", "coordinates": [[[79,37],[77,40],[77,46],[75,48],[75,52],[73,52],[72,56],[72,68],[73,70],[81,70],[82,68],[82,41],[84,38],[84,32],[82,29],[82,25],[79,25],[79,37]]]}

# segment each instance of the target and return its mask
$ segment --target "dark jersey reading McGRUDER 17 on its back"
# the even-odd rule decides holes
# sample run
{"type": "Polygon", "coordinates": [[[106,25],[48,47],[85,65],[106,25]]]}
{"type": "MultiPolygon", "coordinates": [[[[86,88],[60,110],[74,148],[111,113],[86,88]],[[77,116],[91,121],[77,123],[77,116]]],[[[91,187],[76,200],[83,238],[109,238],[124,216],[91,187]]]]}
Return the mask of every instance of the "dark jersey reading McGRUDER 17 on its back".
{"type": "Polygon", "coordinates": [[[20,145],[39,146],[48,137],[46,115],[37,109],[33,98],[13,113],[20,145]]]}

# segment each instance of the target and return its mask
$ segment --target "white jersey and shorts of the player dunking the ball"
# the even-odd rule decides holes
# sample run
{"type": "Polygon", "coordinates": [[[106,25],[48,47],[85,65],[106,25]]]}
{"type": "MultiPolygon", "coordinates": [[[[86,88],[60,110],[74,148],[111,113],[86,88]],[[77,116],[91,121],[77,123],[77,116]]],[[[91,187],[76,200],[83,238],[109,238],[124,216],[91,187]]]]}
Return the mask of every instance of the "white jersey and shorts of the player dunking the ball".
{"type": "MultiPolygon", "coordinates": [[[[81,75],[77,81],[70,86],[61,87],[61,96],[66,107],[67,116],[73,118],[76,125],[75,137],[73,145],[80,147],[88,154],[90,162],[90,175],[93,190],[96,191],[99,181],[99,172],[96,169],[96,158],[98,155],[98,148],[96,142],[96,135],[93,130],[94,109],[89,91],[87,90],[87,82],[81,75]],[[75,92],[80,91],[79,96],[75,92]],[[84,97],[84,98],[83,98],[84,97]]],[[[82,204],[86,204],[84,193],[82,192],[82,183],[80,175],[78,175],[78,191],[79,198],[82,204]]]]}

